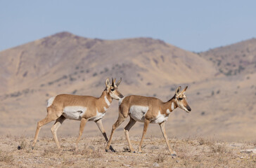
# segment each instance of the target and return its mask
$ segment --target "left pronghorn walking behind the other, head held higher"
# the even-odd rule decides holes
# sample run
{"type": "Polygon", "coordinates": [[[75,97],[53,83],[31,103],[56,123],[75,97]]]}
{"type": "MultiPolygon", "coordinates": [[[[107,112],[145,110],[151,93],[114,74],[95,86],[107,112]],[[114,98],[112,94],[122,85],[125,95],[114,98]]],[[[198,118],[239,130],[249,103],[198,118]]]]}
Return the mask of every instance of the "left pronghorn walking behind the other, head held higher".
{"type": "MultiPolygon", "coordinates": [[[[56,120],[56,122],[53,127],[51,127],[51,132],[53,133],[53,138],[57,147],[60,148],[56,132],[58,127],[60,127],[66,118],[71,120],[81,120],[79,136],[76,144],[82,136],[82,132],[87,121],[94,121],[98,125],[99,130],[101,130],[105,141],[108,141],[108,137],[105,134],[101,120],[105,116],[105,111],[107,111],[112,100],[121,99],[123,97],[123,95],[117,90],[121,80],[122,78],[115,84],[115,80],[112,78],[112,85],[110,85],[109,79],[105,80],[105,90],[102,92],[101,97],[98,98],[72,94],[59,94],[56,97],[51,97],[47,104],[46,118],[37,123],[37,130],[34,136],[32,148],[34,148],[34,145],[37,143],[41,127],[53,120],[56,120]]],[[[110,150],[114,151],[112,147],[110,150]]]]}

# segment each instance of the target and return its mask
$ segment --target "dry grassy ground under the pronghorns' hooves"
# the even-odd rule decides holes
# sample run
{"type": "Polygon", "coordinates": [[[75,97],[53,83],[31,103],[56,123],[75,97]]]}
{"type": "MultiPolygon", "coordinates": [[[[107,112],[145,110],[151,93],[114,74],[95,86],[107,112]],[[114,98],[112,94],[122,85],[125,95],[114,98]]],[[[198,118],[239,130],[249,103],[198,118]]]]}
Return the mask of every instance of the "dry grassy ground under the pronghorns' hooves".
{"type": "MultiPolygon", "coordinates": [[[[102,137],[82,139],[77,150],[74,138],[63,138],[61,149],[52,138],[39,138],[31,149],[32,138],[3,137],[0,140],[0,167],[256,167],[256,155],[240,153],[254,148],[252,143],[224,143],[207,139],[169,139],[177,158],[169,155],[163,139],[155,137],[143,141],[143,153],[124,150],[127,142],[114,139],[117,153],[105,153],[102,137]],[[22,150],[18,150],[20,146],[22,150]]],[[[134,148],[139,138],[131,137],[134,148]]]]}

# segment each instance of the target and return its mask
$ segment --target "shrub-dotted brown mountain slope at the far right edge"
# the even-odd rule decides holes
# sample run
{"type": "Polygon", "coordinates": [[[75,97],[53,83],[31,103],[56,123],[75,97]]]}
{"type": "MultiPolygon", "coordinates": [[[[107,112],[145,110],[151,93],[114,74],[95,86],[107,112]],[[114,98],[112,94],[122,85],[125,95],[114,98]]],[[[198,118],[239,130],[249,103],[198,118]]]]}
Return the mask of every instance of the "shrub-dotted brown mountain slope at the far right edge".
{"type": "Polygon", "coordinates": [[[213,62],[226,76],[256,72],[256,38],[201,52],[200,55],[213,62]]]}

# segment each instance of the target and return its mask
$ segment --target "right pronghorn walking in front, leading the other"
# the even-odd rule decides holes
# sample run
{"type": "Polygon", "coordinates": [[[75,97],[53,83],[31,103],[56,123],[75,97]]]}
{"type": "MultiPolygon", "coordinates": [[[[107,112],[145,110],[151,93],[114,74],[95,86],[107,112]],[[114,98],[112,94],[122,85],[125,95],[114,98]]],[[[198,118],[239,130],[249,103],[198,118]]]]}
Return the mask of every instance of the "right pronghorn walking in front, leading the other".
{"type": "Polygon", "coordinates": [[[134,152],[134,148],[132,148],[131,141],[129,139],[129,130],[134,126],[136,121],[144,123],[143,134],[141,137],[141,142],[139,144],[139,153],[141,153],[141,145],[143,138],[146,134],[148,129],[148,124],[159,124],[162,135],[165,138],[166,144],[169,148],[169,153],[171,155],[176,155],[172,148],[169,146],[167,135],[165,133],[165,121],[174,109],[177,107],[183,109],[184,111],[188,112],[191,111],[191,108],[188,106],[186,102],[185,92],[188,87],[186,86],[184,90],[181,90],[181,87],[177,87],[174,97],[170,99],[168,102],[162,102],[160,99],[155,97],[143,97],[143,96],[136,96],[131,95],[127,97],[123,97],[119,100],[119,116],[117,121],[113,125],[113,129],[110,135],[110,139],[108,144],[105,148],[105,151],[110,149],[110,144],[113,138],[113,133],[115,129],[124,122],[125,118],[130,116],[130,121],[126,127],[124,127],[124,134],[128,141],[129,149],[131,152],[134,152]]]}

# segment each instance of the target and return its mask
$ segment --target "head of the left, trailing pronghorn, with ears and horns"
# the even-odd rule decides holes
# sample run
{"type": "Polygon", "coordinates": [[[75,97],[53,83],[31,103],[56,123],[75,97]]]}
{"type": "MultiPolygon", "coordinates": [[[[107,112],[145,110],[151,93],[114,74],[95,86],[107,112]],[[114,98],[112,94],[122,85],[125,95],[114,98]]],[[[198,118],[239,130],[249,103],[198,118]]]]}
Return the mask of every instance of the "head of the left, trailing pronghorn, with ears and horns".
{"type": "Polygon", "coordinates": [[[106,90],[108,94],[110,94],[110,97],[112,97],[113,99],[119,100],[122,97],[124,97],[117,89],[121,81],[122,81],[122,78],[120,78],[120,80],[115,84],[115,79],[112,78],[112,84],[110,85],[109,78],[105,80],[106,90]]]}

